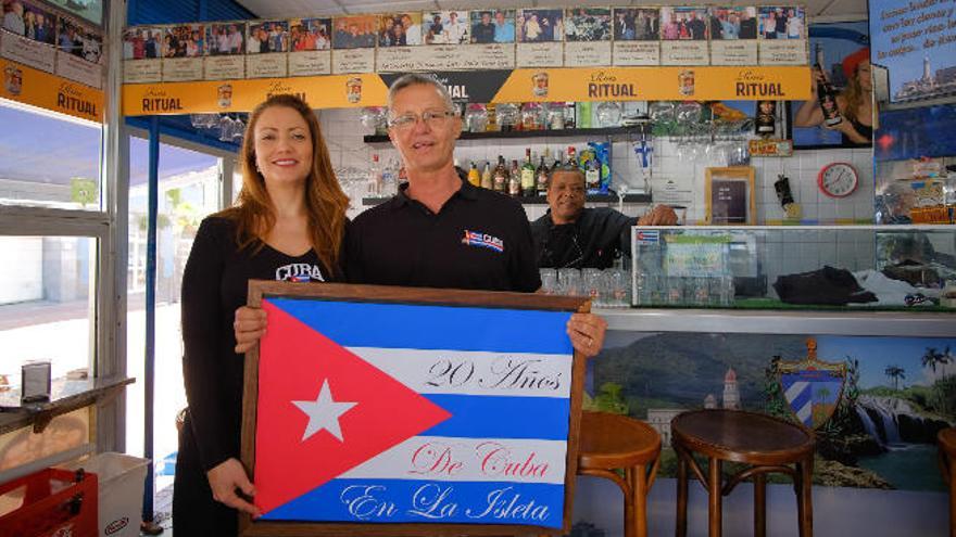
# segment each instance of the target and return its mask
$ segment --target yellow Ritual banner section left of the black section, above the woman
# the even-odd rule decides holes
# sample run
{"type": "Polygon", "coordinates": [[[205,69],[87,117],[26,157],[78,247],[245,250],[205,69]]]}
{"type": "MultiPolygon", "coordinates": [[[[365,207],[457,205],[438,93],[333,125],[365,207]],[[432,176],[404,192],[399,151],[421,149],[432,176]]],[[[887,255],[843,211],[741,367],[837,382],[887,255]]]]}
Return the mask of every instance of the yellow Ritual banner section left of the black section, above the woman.
{"type": "Polygon", "coordinates": [[[293,93],[313,108],[380,106],[388,88],[378,75],[334,75],[123,86],[123,114],[250,112],[268,95],[293,93]]]}

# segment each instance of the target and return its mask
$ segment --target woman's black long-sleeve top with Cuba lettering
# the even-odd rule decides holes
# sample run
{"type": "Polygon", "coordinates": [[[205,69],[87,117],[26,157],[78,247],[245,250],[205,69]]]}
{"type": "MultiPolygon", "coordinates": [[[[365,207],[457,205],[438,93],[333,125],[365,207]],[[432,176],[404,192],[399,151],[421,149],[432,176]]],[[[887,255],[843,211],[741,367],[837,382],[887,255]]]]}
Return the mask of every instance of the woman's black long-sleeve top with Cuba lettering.
{"type": "Polygon", "coordinates": [[[239,456],[244,359],[234,351],[232,322],[246,305],[250,279],[315,282],[341,274],[326,269],[313,250],[298,257],[268,245],[240,251],[232,220],[202,221],[183,276],[183,376],[189,402],[185,433],[193,436],[206,471],[239,456]]]}

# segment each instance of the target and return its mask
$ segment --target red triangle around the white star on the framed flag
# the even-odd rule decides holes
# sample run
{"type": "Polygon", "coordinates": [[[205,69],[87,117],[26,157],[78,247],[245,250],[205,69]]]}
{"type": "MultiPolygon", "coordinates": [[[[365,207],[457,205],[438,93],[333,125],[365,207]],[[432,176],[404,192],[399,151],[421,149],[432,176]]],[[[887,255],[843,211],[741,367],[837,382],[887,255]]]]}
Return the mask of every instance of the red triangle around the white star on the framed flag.
{"type": "Polygon", "coordinates": [[[260,343],[255,504],[266,513],[420,434],[451,414],[268,301],[260,343]],[[342,440],[327,430],[303,439],[310,417],[292,401],[314,401],[325,382],[342,440]]]}

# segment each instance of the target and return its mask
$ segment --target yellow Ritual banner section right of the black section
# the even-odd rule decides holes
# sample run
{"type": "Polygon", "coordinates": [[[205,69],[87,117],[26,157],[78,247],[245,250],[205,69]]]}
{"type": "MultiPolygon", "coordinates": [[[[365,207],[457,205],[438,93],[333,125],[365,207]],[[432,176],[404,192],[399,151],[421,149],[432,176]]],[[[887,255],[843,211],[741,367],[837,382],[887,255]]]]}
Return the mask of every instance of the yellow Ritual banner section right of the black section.
{"type": "Polygon", "coordinates": [[[515,69],[492,102],[807,100],[809,67],[515,69]]]}

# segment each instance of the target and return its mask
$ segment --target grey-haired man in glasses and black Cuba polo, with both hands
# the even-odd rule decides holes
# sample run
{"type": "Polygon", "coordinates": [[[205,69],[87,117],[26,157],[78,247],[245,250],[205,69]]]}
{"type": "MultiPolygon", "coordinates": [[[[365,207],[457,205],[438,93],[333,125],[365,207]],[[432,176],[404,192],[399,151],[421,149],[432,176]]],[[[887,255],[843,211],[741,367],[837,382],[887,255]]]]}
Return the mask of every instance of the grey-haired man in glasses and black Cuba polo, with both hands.
{"type": "MultiPolygon", "coordinates": [[[[455,172],[462,118],[435,78],[405,75],[389,89],[389,138],[408,182],[388,202],[358,215],[345,233],[345,274],[352,283],[516,291],[541,286],[531,227],[511,197],[471,187],[455,172]]],[[[236,351],[264,333],[265,314],[236,312],[236,351]]],[[[593,314],[568,321],[571,345],[601,350],[607,323],[593,314]]]]}

